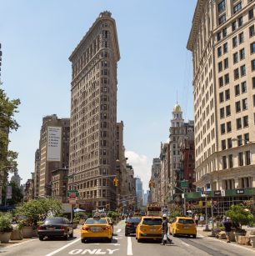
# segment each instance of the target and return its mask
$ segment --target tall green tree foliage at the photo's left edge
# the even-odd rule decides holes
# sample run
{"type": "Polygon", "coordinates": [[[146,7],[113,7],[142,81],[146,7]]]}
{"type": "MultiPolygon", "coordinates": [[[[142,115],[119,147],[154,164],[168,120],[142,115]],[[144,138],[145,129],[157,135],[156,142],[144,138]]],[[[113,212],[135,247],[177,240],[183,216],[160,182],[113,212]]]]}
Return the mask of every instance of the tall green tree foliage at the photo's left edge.
{"type": "Polygon", "coordinates": [[[5,172],[17,169],[18,153],[8,150],[8,133],[16,131],[19,127],[14,119],[14,114],[18,113],[19,104],[19,99],[9,99],[0,88],[0,170],[5,172]]]}

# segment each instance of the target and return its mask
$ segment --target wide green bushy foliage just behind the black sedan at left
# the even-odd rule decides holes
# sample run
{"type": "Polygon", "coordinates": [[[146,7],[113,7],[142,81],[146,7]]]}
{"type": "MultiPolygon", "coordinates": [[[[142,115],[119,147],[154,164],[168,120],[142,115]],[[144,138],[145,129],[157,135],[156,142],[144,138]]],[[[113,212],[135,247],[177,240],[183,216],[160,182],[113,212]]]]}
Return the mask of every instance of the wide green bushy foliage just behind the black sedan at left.
{"type": "Polygon", "coordinates": [[[18,205],[15,209],[16,215],[26,215],[33,223],[47,217],[52,212],[54,216],[62,213],[62,203],[54,198],[38,198],[18,205]]]}

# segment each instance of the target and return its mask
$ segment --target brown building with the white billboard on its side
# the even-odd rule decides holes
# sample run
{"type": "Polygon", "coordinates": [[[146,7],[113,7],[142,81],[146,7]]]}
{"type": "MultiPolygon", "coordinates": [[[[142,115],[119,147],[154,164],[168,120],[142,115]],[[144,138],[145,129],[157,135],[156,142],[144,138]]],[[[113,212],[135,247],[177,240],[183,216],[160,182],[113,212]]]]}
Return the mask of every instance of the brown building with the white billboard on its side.
{"type": "MultiPolygon", "coordinates": [[[[68,168],[69,132],[69,118],[59,119],[56,114],[42,118],[40,153],[35,155],[36,171],[39,171],[39,197],[52,195],[52,171],[58,168],[68,168]],[[40,167],[37,166],[37,161],[40,162],[40,167]]],[[[37,176],[36,173],[36,180],[37,176]]],[[[35,195],[37,196],[37,192],[35,195]]]]}

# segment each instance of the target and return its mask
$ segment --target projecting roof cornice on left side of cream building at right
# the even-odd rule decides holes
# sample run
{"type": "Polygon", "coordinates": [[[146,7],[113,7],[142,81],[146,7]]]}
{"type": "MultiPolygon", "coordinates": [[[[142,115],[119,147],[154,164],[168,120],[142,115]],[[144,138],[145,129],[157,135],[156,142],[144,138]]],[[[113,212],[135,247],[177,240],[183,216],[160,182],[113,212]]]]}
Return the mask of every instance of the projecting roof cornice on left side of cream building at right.
{"type": "Polygon", "coordinates": [[[189,37],[188,37],[188,43],[187,43],[187,48],[189,51],[193,51],[193,45],[195,43],[195,38],[196,35],[198,33],[198,25],[199,25],[199,21],[201,19],[201,14],[202,14],[202,10],[203,10],[203,4],[205,3],[206,0],[198,0],[196,9],[195,9],[195,13],[193,16],[193,26],[191,28],[191,31],[189,33],[189,37]]]}

